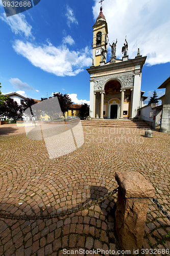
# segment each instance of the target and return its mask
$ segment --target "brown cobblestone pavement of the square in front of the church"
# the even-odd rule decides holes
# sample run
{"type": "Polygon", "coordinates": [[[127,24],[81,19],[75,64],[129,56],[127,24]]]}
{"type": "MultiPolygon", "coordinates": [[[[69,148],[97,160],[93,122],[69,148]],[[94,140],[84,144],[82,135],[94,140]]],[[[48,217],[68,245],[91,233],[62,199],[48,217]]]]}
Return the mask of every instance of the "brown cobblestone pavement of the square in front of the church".
{"type": "MultiPolygon", "coordinates": [[[[47,215],[98,199],[117,187],[116,169],[138,170],[149,180],[156,198],[169,211],[170,136],[142,129],[83,127],[85,143],[78,150],[49,159],[43,140],[26,134],[0,138],[0,210],[19,215],[47,215]]],[[[88,250],[120,249],[110,215],[116,198],[64,218],[48,220],[0,219],[0,255],[88,255],[88,250]],[[87,253],[76,249],[85,249],[87,253]]],[[[144,249],[154,255],[170,251],[170,221],[150,200],[144,249]],[[159,250],[158,250],[159,249],[159,250]],[[150,250],[151,252],[151,250],[150,250]]],[[[145,250],[145,255],[147,254],[145,250]]],[[[93,255],[93,254],[91,254],[93,255]]]]}

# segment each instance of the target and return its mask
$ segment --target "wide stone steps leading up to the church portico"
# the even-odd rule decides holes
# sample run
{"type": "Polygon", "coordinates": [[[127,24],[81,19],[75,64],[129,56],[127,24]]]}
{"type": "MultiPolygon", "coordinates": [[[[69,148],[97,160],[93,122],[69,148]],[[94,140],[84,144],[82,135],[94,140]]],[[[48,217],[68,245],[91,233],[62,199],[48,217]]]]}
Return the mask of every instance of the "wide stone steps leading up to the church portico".
{"type": "Polygon", "coordinates": [[[131,120],[81,120],[82,125],[86,126],[101,126],[101,127],[130,127],[141,129],[152,129],[152,127],[144,121],[131,120]]]}

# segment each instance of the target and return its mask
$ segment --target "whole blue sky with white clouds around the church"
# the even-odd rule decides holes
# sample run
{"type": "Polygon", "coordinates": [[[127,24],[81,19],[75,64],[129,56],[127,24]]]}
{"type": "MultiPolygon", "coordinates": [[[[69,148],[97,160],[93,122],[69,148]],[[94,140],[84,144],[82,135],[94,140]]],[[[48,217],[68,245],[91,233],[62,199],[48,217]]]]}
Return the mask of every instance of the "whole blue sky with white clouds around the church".
{"type": "MultiPolygon", "coordinates": [[[[0,0],[2,93],[40,99],[60,92],[75,103],[89,103],[86,69],[92,62],[92,26],[99,12],[99,0],[41,0],[26,12],[6,17],[0,0]]],[[[138,48],[147,56],[141,90],[149,98],[154,90],[162,96],[164,90],[157,88],[170,75],[169,0],[105,0],[103,14],[110,44],[117,38],[117,58],[122,58],[127,35],[129,58],[138,48]]],[[[107,61],[110,56],[108,46],[107,61]]]]}

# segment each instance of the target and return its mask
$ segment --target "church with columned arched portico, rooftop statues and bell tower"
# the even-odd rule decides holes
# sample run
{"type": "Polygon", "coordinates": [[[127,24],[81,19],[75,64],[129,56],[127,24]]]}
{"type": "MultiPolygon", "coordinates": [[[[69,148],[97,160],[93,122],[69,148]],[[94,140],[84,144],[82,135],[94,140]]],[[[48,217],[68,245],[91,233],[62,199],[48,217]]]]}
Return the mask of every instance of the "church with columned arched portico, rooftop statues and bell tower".
{"type": "Polygon", "coordinates": [[[93,60],[87,69],[90,74],[90,116],[91,118],[129,119],[137,116],[137,109],[143,106],[141,73],[146,56],[139,49],[134,59],[128,57],[128,42],[122,48],[124,56],[116,59],[116,42],[111,46],[112,56],[107,59],[108,28],[102,12],[93,26],[93,60]]]}

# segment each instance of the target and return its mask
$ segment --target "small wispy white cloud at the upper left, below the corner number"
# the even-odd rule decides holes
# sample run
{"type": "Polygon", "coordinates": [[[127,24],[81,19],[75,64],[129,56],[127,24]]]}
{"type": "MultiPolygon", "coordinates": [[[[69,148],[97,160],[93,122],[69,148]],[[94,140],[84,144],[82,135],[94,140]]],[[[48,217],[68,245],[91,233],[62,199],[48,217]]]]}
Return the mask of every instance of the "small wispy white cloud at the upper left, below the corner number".
{"type": "Polygon", "coordinates": [[[32,26],[27,23],[26,16],[24,14],[19,13],[17,15],[6,17],[5,13],[3,13],[0,18],[10,26],[13,33],[23,33],[26,37],[32,36],[32,26]]]}

